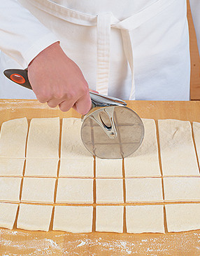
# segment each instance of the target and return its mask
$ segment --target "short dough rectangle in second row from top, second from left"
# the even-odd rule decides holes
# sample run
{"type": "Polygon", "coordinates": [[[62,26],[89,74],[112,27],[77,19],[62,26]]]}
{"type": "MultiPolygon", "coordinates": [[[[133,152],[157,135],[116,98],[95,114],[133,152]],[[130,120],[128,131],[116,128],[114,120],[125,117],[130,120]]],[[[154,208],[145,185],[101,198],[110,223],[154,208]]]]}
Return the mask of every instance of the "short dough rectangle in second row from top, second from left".
{"type": "Polygon", "coordinates": [[[27,159],[25,176],[57,177],[58,159],[27,159]]]}

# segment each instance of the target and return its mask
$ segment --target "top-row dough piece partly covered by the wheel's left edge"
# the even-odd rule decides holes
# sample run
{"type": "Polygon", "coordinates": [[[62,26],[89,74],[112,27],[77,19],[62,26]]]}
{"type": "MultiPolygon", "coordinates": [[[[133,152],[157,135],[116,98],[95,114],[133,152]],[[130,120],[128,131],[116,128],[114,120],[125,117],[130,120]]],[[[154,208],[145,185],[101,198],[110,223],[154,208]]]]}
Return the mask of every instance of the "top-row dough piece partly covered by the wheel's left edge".
{"type": "Polygon", "coordinates": [[[85,149],[80,137],[80,128],[82,122],[80,119],[64,118],[62,119],[62,142],[61,157],[62,159],[70,158],[92,158],[87,149],[85,149]]]}

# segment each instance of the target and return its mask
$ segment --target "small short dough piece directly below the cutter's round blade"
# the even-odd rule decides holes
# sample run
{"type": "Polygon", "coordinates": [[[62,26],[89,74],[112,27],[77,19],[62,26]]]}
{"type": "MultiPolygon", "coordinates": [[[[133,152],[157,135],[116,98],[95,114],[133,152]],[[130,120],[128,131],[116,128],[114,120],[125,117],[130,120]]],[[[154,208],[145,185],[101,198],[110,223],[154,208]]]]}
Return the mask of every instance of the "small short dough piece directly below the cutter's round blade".
{"type": "Polygon", "coordinates": [[[122,177],[122,159],[96,158],[96,177],[122,177]]]}

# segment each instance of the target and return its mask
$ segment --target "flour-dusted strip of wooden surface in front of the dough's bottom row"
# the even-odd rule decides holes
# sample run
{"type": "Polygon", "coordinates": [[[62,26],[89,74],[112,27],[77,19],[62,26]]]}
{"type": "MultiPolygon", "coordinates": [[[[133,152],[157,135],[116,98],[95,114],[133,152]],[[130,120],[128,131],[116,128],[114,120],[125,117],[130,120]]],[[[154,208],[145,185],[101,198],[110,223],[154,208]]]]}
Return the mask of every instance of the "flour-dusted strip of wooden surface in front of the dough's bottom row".
{"type": "Polygon", "coordinates": [[[200,255],[200,231],[172,234],[69,234],[0,229],[3,256],[200,255]]]}

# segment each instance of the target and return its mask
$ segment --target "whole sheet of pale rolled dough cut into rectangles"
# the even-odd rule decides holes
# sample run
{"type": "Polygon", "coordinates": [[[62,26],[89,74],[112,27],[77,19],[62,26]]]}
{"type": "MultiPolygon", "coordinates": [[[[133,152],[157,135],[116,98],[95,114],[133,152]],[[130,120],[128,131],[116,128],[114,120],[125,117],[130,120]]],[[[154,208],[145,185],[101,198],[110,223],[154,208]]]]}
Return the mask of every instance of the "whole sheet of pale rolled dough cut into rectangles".
{"type": "MultiPolygon", "coordinates": [[[[143,123],[143,144],[124,159],[127,203],[163,201],[155,121],[143,119],[143,123]]],[[[159,120],[158,123],[164,176],[199,176],[190,122],[159,120]]],[[[94,203],[94,180],[90,178],[94,177],[94,159],[81,141],[81,125],[80,119],[63,119],[56,203],[94,203]]],[[[16,202],[20,202],[22,178],[18,176],[23,173],[27,128],[26,118],[13,119],[1,126],[0,175],[13,177],[0,177],[0,201],[15,202],[0,203],[0,226],[8,229],[13,228],[16,202]]],[[[194,122],[193,129],[200,159],[200,123],[194,122]]],[[[23,179],[17,228],[48,231],[53,206],[23,202],[54,203],[56,179],[49,177],[57,177],[58,149],[59,118],[32,119],[25,168],[25,175],[31,177],[23,179]]],[[[124,203],[121,159],[96,159],[96,177],[97,203],[124,203]]],[[[165,201],[200,201],[200,177],[163,180],[165,201]]],[[[169,232],[200,229],[199,203],[166,204],[165,208],[169,232]]],[[[164,233],[162,205],[126,206],[125,212],[127,233],[164,233]]],[[[124,206],[96,206],[96,231],[122,233],[123,215],[124,206]]],[[[53,229],[91,232],[92,219],[92,206],[55,206],[53,229]]]]}

